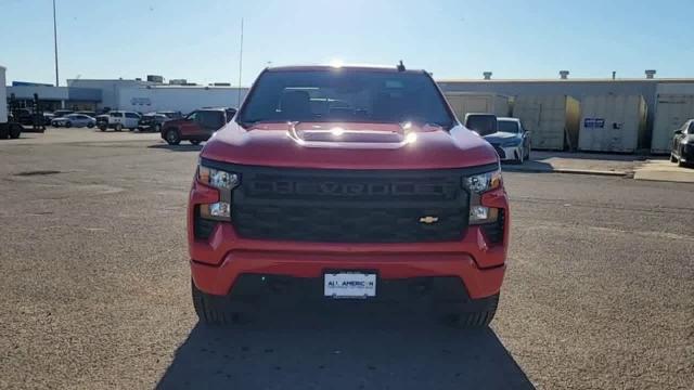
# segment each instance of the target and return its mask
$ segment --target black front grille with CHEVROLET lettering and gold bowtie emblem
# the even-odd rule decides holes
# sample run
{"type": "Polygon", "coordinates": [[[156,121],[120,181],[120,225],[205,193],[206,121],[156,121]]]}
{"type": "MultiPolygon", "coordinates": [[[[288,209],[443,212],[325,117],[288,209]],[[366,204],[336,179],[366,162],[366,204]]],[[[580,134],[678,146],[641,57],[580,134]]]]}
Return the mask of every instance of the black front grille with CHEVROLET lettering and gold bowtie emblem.
{"type": "Polygon", "coordinates": [[[448,242],[467,227],[473,170],[266,168],[205,161],[241,173],[232,223],[254,239],[332,243],[448,242]]]}

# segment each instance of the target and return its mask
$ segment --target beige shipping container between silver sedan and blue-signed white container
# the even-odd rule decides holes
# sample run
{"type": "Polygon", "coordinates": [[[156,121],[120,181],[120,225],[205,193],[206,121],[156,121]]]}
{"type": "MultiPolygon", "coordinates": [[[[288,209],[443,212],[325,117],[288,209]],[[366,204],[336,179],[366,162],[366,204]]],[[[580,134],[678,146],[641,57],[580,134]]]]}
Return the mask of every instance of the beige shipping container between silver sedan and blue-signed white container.
{"type": "Polygon", "coordinates": [[[513,116],[530,131],[532,148],[574,150],[578,141],[580,103],[567,95],[518,95],[513,116]]]}

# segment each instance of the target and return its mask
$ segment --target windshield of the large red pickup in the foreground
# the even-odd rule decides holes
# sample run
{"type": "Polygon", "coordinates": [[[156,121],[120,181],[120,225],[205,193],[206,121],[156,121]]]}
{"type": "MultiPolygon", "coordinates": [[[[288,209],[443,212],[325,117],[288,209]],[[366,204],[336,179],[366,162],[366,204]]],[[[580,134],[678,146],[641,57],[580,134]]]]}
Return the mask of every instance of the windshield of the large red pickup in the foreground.
{"type": "Polygon", "coordinates": [[[427,75],[355,69],[267,72],[239,118],[242,123],[409,120],[442,127],[453,123],[427,75]]]}

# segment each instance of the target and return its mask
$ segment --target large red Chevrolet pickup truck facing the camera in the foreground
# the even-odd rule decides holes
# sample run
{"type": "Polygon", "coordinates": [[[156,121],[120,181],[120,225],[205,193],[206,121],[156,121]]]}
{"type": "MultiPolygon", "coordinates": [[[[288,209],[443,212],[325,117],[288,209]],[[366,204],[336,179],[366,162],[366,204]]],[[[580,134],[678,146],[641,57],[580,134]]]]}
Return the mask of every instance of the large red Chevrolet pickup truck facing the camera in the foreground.
{"type": "Polygon", "coordinates": [[[198,164],[188,240],[201,321],[232,323],[273,295],[492,320],[510,221],[499,157],[426,72],[265,69],[198,164]]]}

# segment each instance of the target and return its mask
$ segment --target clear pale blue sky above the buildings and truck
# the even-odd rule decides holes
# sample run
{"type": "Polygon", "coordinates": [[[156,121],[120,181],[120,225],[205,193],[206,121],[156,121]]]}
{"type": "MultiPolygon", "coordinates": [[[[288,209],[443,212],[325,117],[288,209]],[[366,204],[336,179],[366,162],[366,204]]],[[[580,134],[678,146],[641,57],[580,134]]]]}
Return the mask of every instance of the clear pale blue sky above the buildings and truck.
{"type": "MultiPolygon", "coordinates": [[[[61,84],[147,74],[243,84],[272,65],[396,64],[441,78],[694,77],[694,0],[56,0],[61,84]]],[[[0,0],[8,81],[53,82],[51,0],[0,0]]]]}

